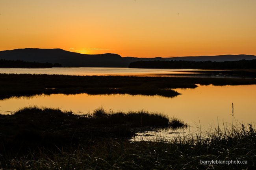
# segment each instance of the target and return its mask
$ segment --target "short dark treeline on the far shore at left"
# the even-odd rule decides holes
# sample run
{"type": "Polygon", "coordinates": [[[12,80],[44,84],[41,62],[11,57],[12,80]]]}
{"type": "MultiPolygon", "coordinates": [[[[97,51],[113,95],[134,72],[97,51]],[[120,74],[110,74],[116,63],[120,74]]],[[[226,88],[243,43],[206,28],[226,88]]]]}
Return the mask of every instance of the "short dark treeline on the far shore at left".
{"type": "Polygon", "coordinates": [[[28,62],[22,60],[4,60],[0,59],[0,68],[52,68],[52,67],[62,67],[59,63],[37,63],[28,62]]]}

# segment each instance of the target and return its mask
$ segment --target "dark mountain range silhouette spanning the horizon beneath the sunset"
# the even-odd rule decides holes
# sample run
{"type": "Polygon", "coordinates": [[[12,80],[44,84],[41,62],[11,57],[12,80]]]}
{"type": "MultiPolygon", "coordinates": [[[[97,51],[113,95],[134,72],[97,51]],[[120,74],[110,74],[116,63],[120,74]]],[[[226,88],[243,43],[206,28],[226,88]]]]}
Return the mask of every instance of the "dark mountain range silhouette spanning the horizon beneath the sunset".
{"type": "Polygon", "coordinates": [[[172,58],[137,58],[121,57],[118,54],[80,54],[77,52],[65,51],[63,49],[14,49],[0,51],[0,59],[23,60],[39,63],[59,63],[63,67],[128,67],[134,61],[235,61],[252,60],[256,56],[252,55],[223,55],[223,56],[197,56],[197,57],[172,57],[172,58]]]}

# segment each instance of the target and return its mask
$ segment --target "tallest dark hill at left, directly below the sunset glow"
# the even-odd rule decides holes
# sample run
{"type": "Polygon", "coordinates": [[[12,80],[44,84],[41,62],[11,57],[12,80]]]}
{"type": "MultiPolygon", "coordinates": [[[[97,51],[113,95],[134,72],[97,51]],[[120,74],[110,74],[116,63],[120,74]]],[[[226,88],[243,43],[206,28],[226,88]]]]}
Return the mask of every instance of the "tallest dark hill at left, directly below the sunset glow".
{"type": "Polygon", "coordinates": [[[14,49],[0,51],[0,59],[60,63],[64,67],[123,67],[118,54],[80,54],[62,49],[14,49]]]}

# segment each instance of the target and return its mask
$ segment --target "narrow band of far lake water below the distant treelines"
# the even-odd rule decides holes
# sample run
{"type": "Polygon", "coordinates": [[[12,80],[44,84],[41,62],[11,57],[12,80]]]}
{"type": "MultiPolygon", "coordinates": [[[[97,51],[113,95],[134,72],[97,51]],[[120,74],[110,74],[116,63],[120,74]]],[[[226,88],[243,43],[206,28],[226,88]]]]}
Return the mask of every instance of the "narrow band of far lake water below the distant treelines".
{"type": "Polygon", "coordinates": [[[7,74],[62,74],[78,76],[157,76],[157,77],[204,77],[204,78],[256,78],[254,72],[203,70],[203,69],[129,69],[105,67],[63,67],[44,69],[0,68],[7,74]]]}

